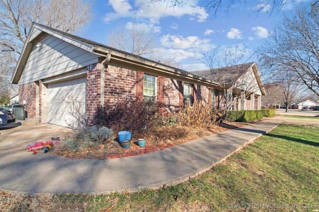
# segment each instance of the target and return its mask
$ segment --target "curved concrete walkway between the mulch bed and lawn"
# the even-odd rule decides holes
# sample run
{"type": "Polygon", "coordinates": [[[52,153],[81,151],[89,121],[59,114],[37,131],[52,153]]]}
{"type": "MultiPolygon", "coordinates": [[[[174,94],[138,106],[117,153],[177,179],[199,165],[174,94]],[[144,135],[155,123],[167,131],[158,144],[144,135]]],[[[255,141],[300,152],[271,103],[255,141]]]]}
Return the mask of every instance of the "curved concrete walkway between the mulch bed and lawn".
{"type": "Polygon", "coordinates": [[[2,139],[8,135],[1,131],[0,190],[107,194],[176,185],[209,170],[282,122],[264,119],[161,151],[115,159],[70,159],[50,153],[31,155],[25,145],[4,148],[6,141],[2,139]]]}

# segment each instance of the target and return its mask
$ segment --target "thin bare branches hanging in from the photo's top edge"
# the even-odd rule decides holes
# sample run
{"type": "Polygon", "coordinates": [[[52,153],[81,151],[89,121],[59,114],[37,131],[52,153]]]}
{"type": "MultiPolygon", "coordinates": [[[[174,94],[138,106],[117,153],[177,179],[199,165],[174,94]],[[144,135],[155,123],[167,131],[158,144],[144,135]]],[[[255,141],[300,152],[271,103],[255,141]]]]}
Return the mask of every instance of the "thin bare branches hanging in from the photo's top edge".
{"type": "MultiPolygon", "coordinates": [[[[236,5],[247,3],[250,0],[203,0],[200,2],[201,7],[205,8],[213,16],[216,16],[220,10],[226,14],[236,5]]],[[[164,4],[166,7],[183,6],[188,0],[149,0],[150,3],[164,4]]],[[[287,3],[293,3],[294,0],[259,0],[254,7],[256,12],[267,11],[272,13],[281,10],[287,3]]]]}

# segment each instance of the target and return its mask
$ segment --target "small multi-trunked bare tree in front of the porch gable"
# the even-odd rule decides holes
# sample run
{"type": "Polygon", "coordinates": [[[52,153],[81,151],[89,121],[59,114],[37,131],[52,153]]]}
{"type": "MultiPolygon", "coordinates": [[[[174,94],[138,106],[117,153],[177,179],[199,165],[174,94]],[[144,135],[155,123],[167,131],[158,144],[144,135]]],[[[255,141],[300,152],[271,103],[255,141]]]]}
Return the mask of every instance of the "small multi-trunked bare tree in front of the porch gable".
{"type": "MultiPolygon", "coordinates": [[[[201,60],[209,68],[210,76],[215,83],[223,90],[223,106],[218,108],[223,110],[223,117],[226,118],[227,112],[235,106],[237,99],[249,98],[248,94],[258,91],[259,86],[256,82],[255,71],[247,71],[253,63],[244,62],[246,57],[246,47],[236,44],[234,48],[225,49],[224,54],[220,55],[218,48],[205,54],[201,60]],[[226,65],[224,68],[215,68],[226,65]],[[243,95],[244,94],[244,95],[243,95]]],[[[196,74],[197,71],[194,71],[196,74]]]]}

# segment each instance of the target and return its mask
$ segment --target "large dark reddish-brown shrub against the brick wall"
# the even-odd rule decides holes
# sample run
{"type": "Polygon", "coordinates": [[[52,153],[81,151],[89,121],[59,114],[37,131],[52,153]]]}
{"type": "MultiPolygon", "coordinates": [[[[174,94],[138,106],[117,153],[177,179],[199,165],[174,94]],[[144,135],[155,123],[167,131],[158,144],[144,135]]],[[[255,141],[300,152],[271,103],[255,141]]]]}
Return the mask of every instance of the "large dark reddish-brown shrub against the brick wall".
{"type": "Polygon", "coordinates": [[[98,106],[93,122],[114,132],[131,131],[135,137],[143,138],[159,124],[162,107],[161,103],[139,98],[106,102],[105,106],[98,106]]]}

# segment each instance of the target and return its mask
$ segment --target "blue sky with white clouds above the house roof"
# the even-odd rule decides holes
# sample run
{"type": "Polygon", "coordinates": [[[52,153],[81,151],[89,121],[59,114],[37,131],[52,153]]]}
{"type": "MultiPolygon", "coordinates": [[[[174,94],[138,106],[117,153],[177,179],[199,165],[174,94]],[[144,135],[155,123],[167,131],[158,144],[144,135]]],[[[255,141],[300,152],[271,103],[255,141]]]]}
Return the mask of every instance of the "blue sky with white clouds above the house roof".
{"type": "MultiPolygon", "coordinates": [[[[141,24],[156,35],[157,48],[165,56],[175,55],[185,71],[204,70],[200,62],[203,54],[212,48],[232,48],[241,43],[246,46],[247,62],[256,61],[253,53],[266,38],[282,12],[289,12],[291,4],[270,14],[254,12],[258,1],[235,5],[228,14],[219,12],[211,16],[205,8],[197,6],[199,0],[188,0],[186,5],[167,7],[150,4],[148,0],[95,0],[93,20],[86,28],[87,39],[107,43],[107,36],[118,25],[141,24]]],[[[257,62],[257,61],[256,61],[257,62]]]]}

